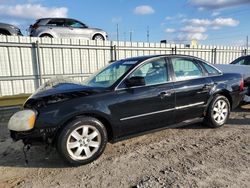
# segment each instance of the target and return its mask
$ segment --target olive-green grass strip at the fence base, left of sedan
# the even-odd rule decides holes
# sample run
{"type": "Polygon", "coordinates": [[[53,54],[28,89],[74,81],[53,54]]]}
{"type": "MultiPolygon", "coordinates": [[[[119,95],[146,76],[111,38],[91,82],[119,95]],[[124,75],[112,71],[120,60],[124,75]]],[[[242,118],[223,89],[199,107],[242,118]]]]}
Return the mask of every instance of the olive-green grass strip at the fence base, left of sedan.
{"type": "Polygon", "coordinates": [[[0,107],[20,106],[30,96],[30,94],[20,94],[0,97],[0,107]]]}

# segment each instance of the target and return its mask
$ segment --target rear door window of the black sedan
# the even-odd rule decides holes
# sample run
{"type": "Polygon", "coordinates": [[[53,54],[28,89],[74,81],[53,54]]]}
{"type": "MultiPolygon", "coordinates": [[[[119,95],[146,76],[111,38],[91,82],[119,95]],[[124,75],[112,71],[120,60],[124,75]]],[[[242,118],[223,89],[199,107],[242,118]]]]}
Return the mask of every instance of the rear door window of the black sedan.
{"type": "Polygon", "coordinates": [[[201,68],[190,59],[173,58],[172,65],[176,81],[199,78],[203,75],[201,68]]]}

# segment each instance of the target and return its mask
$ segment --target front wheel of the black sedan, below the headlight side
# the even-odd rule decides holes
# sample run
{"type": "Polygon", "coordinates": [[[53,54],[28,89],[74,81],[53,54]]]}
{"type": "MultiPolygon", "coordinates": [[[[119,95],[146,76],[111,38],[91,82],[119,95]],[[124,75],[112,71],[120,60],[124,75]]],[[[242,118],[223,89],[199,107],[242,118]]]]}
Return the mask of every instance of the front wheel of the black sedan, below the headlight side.
{"type": "Polygon", "coordinates": [[[107,131],[99,120],[81,117],[62,129],[57,139],[57,149],[71,165],[84,165],[103,153],[107,141],[107,131]]]}

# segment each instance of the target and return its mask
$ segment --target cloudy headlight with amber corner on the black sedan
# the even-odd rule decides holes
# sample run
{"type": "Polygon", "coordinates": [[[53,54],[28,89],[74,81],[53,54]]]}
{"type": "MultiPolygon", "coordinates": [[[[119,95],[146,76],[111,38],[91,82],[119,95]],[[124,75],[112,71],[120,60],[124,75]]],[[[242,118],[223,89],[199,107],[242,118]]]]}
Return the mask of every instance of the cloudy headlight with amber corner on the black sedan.
{"type": "Polygon", "coordinates": [[[11,116],[8,129],[12,131],[28,131],[34,128],[36,112],[33,110],[22,110],[11,116]]]}

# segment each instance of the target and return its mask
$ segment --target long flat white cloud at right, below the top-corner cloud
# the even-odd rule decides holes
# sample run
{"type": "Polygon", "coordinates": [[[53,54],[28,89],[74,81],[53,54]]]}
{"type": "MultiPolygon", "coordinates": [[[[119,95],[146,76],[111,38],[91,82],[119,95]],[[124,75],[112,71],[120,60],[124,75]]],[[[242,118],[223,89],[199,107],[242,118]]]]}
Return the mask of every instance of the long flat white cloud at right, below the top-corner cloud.
{"type": "Polygon", "coordinates": [[[184,20],[184,22],[187,22],[193,26],[203,26],[203,27],[214,27],[214,28],[220,28],[224,26],[228,27],[235,27],[240,22],[238,20],[235,20],[233,18],[216,18],[213,20],[209,19],[190,19],[190,20],[184,20]]]}

